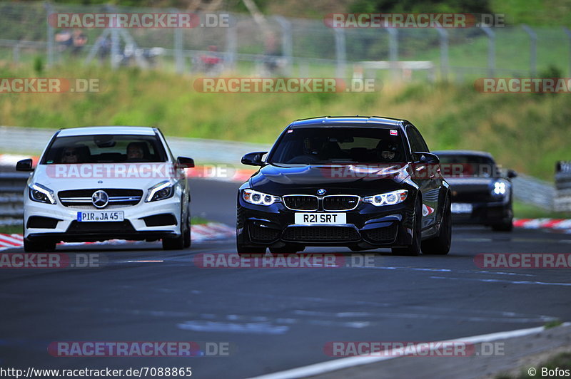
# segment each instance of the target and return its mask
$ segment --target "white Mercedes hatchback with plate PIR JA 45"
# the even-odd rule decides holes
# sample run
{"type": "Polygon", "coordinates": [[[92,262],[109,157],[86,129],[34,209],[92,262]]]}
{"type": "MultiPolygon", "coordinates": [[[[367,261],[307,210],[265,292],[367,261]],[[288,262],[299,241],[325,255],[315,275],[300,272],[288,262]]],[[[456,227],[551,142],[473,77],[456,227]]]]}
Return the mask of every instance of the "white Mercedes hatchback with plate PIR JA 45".
{"type": "Polygon", "coordinates": [[[162,240],[191,246],[187,157],[173,157],[157,128],[96,126],[58,130],[24,190],[24,249],[59,242],[162,240]]]}

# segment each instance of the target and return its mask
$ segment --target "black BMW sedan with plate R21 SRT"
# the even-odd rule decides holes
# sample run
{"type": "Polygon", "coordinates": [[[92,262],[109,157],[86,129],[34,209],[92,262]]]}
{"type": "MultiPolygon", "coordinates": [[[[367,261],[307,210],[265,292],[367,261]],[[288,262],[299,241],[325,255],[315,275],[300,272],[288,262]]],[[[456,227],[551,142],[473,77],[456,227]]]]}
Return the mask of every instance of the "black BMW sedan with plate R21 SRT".
{"type": "Polygon", "coordinates": [[[261,168],[238,190],[238,254],[305,246],[450,250],[448,183],[407,120],[296,120],[270,152],[251,152],[242,163],[261,168]]]}

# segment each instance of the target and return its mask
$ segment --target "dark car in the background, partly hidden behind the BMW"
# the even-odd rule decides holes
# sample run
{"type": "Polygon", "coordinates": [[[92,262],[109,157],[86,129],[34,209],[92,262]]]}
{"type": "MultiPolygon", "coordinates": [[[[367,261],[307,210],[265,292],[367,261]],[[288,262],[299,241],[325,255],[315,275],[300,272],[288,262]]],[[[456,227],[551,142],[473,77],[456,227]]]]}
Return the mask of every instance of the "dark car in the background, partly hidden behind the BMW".
{"type": "Polygon", "coordinates": [[[452,191],[455,224],[482,224],[495,231],[512,230],[513,170],[500,170],[488,152],[435,151],[452,191]]]}

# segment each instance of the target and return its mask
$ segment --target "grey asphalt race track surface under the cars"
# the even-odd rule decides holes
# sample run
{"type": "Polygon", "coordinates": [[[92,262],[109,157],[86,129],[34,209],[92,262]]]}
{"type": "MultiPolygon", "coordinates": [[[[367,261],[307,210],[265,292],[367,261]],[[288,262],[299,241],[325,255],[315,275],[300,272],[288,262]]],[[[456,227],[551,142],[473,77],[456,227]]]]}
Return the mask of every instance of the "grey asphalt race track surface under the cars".
{"type": "MultiPolygon", "coordinates": [[[[233,226],[238,184],[193,180],[191,186],[193,215],[233,226]]],[[[484,252],[568,253],[571,234],[455,227],[448,256],[378,250],[375,266],[365,268],[194,266],[194,254],[234,252],[233,239],[183,252],[162,251],[156,242],[57,251],[101,253],[107,263],[1,271],[4,367],[191,367],[196,378],[246,378],[334,359],[323,353],[330,341],[443,341],[571,320],[568,270],[487,270],[473,261],[484,252]],[[54,341],[229,342],[231,354],[61,358],[47,352],[54,341]]]]}

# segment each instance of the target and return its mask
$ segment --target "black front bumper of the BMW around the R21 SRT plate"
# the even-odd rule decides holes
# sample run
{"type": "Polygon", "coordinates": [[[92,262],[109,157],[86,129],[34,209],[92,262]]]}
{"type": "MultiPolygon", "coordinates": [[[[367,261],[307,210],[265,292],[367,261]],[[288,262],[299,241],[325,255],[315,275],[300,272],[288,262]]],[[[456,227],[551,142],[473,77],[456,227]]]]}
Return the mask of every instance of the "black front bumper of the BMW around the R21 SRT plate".
{"type": "Polygon", "coordinates": [[[385,207],[360,203],[354,210],[340,211],[346,214],[346,224],[305,225],[295,224],[296,211],[281,203],[266,207],[238,199],[237,242],[245,247],[405,246],[412,242],[414,203],[409,200],[385,207]]]}

